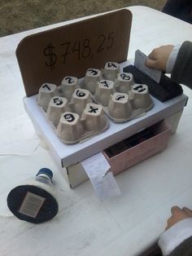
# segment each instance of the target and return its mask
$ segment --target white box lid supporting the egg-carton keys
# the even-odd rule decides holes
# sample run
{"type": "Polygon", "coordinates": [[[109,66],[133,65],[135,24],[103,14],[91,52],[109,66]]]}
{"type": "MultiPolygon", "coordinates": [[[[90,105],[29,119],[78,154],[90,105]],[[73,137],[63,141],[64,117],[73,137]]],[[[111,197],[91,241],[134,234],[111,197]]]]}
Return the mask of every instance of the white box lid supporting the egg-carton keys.
{"type": "Polygon", "coordinates": [[[33,122],[33,126],[37,134],[43,139],[48,148],[50,148],[51,156],[55,159],[59,168],[72,166],[85,158],[93,156],[97,152],[103,151],[105,148],[126,139],[140,130],[143,130],[155,123],[163,120],[172,120],[171,125],[177,126],[178,119],[174,119],[176,113],[181,113],[185,106],[187,97],[180,95],[165,103],[153,98],[154,108],[142,117],[124,123],[115,123],[109,120],[109,128],[98,135],[85,140],[83,143],[65,144],[59,140],[55,131],[50,126],[41,108],[37,105],[37,96],[33,95],[24,98],[24,107],[28,116],[33,122]],[[172,117],[173,116],[173,117],[172,117]]]}

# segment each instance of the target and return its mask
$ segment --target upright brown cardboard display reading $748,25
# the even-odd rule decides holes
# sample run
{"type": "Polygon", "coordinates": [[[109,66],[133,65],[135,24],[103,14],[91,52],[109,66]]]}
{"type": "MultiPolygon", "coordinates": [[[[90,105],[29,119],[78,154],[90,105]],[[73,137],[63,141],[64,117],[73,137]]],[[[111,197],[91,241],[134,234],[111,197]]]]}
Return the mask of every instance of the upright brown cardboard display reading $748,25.
{"type": "Polygon", "coordinates": [[[27,96],[42,83],[84,77],[88,68],[127,60],[132,14],[127,9],[67,24],[24,38],[16,49],[27,96]]]}

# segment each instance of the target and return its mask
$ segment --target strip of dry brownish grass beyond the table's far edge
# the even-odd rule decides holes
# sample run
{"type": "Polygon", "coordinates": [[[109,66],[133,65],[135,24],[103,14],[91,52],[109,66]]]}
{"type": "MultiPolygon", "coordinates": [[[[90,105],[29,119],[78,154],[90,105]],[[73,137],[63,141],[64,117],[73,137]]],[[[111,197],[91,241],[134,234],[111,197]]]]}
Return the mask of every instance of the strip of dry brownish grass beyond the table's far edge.
{"type": "Polygon", "coordinates": [[[133,5],[161,10],[164,2],[165,0],[1,0],[0,37],[133,5]]]}

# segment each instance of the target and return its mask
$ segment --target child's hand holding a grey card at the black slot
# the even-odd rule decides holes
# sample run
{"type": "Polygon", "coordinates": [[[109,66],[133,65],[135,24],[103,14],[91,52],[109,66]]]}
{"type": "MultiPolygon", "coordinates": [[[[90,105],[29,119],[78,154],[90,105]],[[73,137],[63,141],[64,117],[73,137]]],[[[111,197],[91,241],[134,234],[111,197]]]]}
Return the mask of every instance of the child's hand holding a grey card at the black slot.
{"type": "Polygon", "coordinates": [[[166,72],[168,57],[172,52],[173,47],[174,46],[172,45],[168,45],[155,48],[153,51],[151,51],[150,55],[148,55],[149,59],[146,60],[146,66],[148,68],[155,68],[166,72]]]}

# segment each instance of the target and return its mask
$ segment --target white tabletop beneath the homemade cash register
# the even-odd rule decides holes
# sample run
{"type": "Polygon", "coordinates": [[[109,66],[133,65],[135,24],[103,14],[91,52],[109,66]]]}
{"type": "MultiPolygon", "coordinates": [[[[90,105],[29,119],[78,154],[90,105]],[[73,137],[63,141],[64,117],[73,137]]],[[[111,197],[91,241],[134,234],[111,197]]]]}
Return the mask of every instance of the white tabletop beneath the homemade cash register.
{"type": "MultiPolygon", "coordinates": [[[[148,7],[129,10],[133,25],[128,58],[137,49],[147,55],[156,46],[192,41],[191,24],[148,7]]],[[[61,24],[0,38],[0,255],[140,254],[164,231],[172,205],[192,208],[192,92],[183,86],[189,101],[168,148],[116,176],[121,196],[101,202],[90,182],[71,190],[39,145],[24,111],[24,86],[15,58],[15,48],[26,35],[61,24]],[[6,198],[11,188],[41,167],[54,172],[59,214],[34,225],[12,216],[6,198]]]]}

